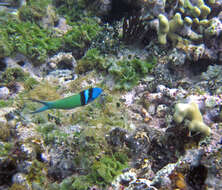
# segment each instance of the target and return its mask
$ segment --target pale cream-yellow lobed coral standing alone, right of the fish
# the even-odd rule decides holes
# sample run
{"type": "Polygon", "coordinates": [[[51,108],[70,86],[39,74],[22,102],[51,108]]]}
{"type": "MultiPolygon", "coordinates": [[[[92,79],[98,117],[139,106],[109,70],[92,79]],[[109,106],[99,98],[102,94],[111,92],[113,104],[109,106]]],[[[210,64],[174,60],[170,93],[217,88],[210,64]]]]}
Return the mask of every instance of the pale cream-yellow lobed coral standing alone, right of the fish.
{"type": "Polygon", "coordinates": [[[195,102],[175,105],[174,121],[181,123],[185,118],[190,120],[188,124],[190,131],[199,132],[205,136],[210,135],[211,129],[203,122],[202,115],[195,102]]]}

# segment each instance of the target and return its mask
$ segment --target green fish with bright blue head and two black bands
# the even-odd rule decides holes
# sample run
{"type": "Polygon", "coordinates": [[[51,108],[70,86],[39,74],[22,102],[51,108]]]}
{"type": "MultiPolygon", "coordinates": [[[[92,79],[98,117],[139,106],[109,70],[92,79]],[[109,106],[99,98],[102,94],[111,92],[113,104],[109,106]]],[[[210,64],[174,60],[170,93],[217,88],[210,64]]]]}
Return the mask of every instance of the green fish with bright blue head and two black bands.
{"type": "Polygon", "coordinates": [[[87,105],[101,95],[103,90],[101,88],[89,88],[83,90],[78,94],[55,100],[55,101],[41,101],[36,99],[30,99],[33,102],[43,104],[43,106],[36,111],[30,112],[31,114],[43,112],[49,109],[74,109],[79,106],[87,105]]]}

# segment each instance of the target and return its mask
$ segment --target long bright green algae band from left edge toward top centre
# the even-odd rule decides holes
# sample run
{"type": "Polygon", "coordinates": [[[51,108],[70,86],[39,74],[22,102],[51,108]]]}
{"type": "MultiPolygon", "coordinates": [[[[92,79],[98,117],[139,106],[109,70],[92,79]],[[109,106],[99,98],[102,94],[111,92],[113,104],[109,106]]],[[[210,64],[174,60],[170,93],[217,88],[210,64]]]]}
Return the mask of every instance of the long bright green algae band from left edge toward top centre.
{"type": "Polygon", "coordinates": [[[58,37],[52,29],[45,29],[29,20],[9,19],[2,22],[0,57],[21,53],[31,58],[34,65],[41,65],[48,56],[59,50],[70,51],[77,48],[77,52],[84,52],[101,31],[96,20],[87,17],[70,22],[69,25],[72,29],[63,37],[58,37]]]}

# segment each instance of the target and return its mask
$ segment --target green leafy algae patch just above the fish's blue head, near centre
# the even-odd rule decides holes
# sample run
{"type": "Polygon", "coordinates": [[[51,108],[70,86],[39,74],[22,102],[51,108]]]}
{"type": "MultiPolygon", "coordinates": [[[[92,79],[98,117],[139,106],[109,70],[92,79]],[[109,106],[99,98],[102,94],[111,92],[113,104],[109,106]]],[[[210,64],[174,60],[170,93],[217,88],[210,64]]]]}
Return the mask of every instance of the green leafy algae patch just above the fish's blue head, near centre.
{"type": "Polygon", "coordinates": [[[86,55],[77,63],[77,71],[85,73],[91,70],[104,71],[111,74],[115,80],[115,88],[130,90],[145,77],[157,62],[156,57],[146,59],[124,57],[121,60],[113,60],[102,56],[98,49],[89,49],[86,55]]]}

